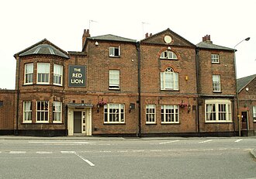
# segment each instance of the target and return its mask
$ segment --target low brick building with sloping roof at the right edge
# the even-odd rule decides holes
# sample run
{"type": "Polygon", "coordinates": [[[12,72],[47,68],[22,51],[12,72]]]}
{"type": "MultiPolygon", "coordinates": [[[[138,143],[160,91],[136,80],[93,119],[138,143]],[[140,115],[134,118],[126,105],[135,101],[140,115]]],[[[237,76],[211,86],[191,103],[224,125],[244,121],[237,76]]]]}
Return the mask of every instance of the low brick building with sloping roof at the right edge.
{"type": "Polygon", "coordinates": [[[256,132],[256,74],[237,79],[240,134],[254,136],[256,132]]]}

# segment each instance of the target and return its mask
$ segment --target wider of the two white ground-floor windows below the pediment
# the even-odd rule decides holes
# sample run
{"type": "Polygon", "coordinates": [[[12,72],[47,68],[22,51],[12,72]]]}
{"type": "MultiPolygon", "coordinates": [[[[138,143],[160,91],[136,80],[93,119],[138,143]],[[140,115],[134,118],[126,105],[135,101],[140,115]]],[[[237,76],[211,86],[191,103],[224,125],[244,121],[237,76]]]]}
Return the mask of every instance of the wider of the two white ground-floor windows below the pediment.
{"type": "Polygon", "coordinates": [[[178,105],[161,106],[161,123],[178,123],[178,105]]]}

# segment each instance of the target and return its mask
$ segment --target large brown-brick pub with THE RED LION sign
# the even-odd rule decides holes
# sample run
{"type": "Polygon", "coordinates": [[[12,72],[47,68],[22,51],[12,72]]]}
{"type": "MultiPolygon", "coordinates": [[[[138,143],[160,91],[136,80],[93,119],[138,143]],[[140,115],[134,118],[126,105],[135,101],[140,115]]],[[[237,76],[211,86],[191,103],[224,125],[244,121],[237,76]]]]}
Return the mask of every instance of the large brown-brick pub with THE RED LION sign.
{"type": "Polygon", "coordinates": [[[137,42],[85,29],[81,52],[45,39],[15,57],[18,135],[238,133],[234,49],[210,36],[194,45],[165,29],[137,42]]]}

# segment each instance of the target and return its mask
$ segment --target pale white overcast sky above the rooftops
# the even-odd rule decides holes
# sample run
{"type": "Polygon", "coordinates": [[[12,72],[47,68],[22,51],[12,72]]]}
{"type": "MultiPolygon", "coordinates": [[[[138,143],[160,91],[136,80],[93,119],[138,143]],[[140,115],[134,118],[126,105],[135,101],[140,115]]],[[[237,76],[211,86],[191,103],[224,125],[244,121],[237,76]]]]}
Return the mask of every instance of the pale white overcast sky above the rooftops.
{"type": "Polygon", "coordinates": [[[112,34],[133,40],[170,28],[197,44],[236,46],[237,77],[256,74],[255,0],[3,0],[0,3],[0,88],[15,88],[15,53],[46,38],[81,51],[81,36],[112,34]],[[90,22],[91,21],[91,22],[90,22]]]}

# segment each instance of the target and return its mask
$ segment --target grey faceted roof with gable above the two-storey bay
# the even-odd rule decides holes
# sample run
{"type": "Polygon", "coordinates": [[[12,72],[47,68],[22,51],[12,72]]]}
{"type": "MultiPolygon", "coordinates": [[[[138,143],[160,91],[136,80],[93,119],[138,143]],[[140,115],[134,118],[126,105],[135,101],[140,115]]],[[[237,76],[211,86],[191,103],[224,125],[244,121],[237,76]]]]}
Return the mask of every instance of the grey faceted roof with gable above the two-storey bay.
{"type": "Polygon", "coordinates": [[[47,39],[41,40],[40,42],[34,44],[33,46],[29,46],[25,50],[22,50],[21,52],[16,53],[16,55],[19,55],[19,57],[33,55],[33,54],[47,54],[47,55],[56,55],[59,57],[69,58],[67,55],[67,52],[65,52],[64,50],[61,50],[61,48],[55,46],[53,43],[50,43],[50,41],[47,39]]]}

